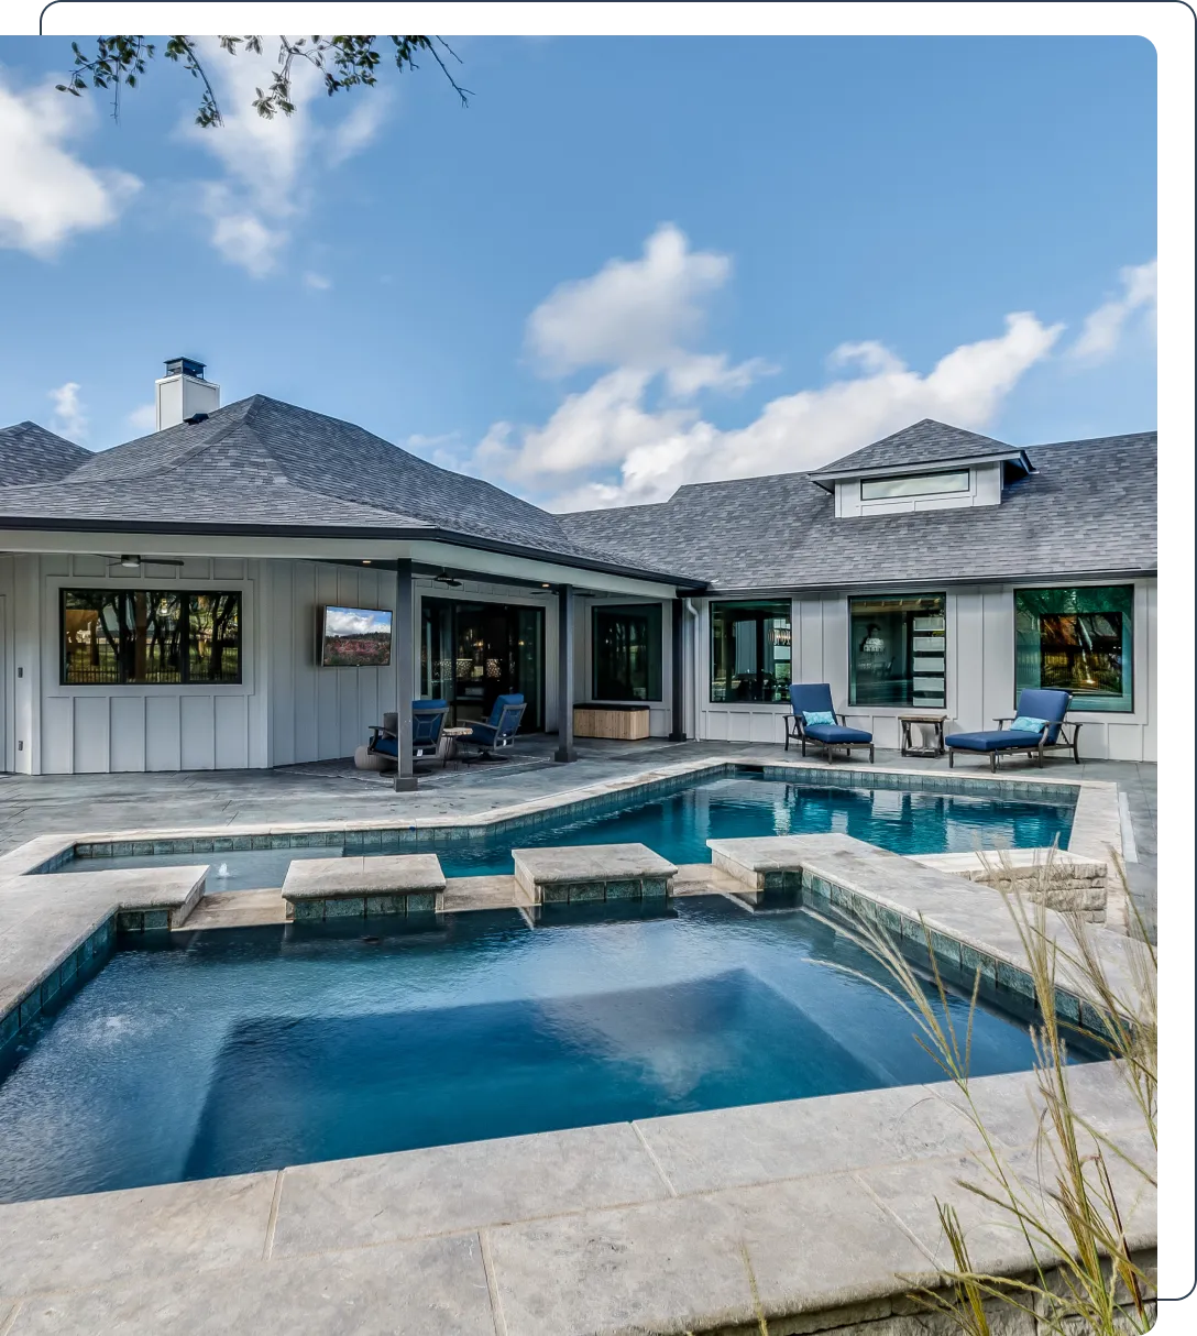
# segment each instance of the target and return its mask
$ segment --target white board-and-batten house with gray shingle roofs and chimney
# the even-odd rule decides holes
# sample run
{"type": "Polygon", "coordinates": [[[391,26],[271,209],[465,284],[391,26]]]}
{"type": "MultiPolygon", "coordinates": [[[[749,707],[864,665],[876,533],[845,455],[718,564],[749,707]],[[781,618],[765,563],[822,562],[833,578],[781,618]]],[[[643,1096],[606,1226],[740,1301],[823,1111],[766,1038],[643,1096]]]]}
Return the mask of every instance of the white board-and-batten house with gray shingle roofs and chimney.
{"type": "Polygon", "coordinates": [[[791,680],[883,747],[903,712],[979,728],[1058,683],[1082,755],[1158,756],[1158,433],[923,421],[812,473],[550,514],[337,418],[220,407],[187,358],[156,403],[159,430],[96,454],[0,430],[7,770],[331,759],[414,696],[469,720],[502,691],[525,728],[565,724],[561,760],[576,701],[780,741],[791,680]],[[326,609],[362,665],[321,667],[326,609]]]}

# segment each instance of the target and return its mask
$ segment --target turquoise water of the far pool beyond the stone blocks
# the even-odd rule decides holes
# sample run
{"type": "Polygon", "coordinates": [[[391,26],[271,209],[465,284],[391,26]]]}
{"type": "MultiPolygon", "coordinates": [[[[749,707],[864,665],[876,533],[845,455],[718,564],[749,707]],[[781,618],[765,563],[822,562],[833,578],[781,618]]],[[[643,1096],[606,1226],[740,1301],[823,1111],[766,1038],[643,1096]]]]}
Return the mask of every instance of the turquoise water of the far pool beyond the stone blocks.
{"type": "MultiPolygon", "coordinates": [[[[615,811],[530,826],[502,838],[474,836],[438,844],[446,876],[510,872],[512,848],[545,844],[640,843],[675,863],[709,863],[708,839],[806,835],[843,831],[895,854],[971,852],[982,848],[1041,848],[1053,839],[1067,846],[1073,807],[1001,802],[961,794],[892,788],[816,788],[760,776],[700,782],[661,798],[640,799],[615,811]]],[[[432,842],[426,846],[433,848],[432,842]]],[[[418,852],[422,846],[367,854],[418,852]]],[[[355,850],[354,852],[362,852],[355,850]]],[[[142,858],[75,859],[67,871],[98,867],[195,864],[211,859],[210,891],[282,886],[295,858],[335,858],[335,848],[252,850],[230,854],[167,854],[142,858]],[[218,876],[220,866],[226,875],[218,876]]]]}

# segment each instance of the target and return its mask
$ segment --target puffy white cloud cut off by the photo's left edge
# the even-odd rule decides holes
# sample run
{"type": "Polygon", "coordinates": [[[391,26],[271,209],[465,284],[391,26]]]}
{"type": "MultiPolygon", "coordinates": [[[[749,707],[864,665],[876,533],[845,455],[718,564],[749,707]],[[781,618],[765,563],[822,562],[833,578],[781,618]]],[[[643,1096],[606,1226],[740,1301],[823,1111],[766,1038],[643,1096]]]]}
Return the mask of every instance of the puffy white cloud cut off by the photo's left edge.
{"type": "Polygon", "coordinates": [[[140,188],[65,147],[92,116],[87,99],[0,81],[0,246],[48,259],[73,234],[114,223],[140,188]]]}

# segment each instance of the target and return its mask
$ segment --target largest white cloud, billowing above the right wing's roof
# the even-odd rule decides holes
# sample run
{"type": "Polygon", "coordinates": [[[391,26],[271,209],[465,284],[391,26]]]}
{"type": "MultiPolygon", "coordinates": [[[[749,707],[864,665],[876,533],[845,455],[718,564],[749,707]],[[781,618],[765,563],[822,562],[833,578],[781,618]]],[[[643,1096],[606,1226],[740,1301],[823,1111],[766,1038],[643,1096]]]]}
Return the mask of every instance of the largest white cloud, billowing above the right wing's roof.
{"type": "Polygon", "coordinates": [[[1002,333],[946,353],[926,373],[874,339],[842,343],[827,383],[774,398],[745,426],[708,421],[692,395],[743,387],[772,370],[700,354],[704,301],[731,273],[724,255],[691,253],[659,228],[640,261],[612,261],[561,285],[529,319],[528,342],[556,373],[603,367],[542,426],[496,422],[472,466],[532,488],[554,509],[663,501],[684,482],[818,468],[924,417],[981,430],[1063,326],[1029,311],[1002,333]],[[655,393],[660,389],[660,393],[655,393]]]}

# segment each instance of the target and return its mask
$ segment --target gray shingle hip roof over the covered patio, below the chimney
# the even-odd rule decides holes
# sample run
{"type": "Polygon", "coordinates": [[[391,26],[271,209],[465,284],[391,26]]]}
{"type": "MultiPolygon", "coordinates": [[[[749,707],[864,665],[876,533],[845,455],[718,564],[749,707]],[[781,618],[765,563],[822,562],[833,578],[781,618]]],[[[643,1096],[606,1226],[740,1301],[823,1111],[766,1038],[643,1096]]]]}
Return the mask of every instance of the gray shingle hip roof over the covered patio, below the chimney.
{"type": "Polygon", "coordinates": [[[53,486],[0,486],[0,524],[428,529],[566,561],[655,570],[594,552],[557,516],[481,478],[261,394],[203,422],[81,454],[53,486]]]}

